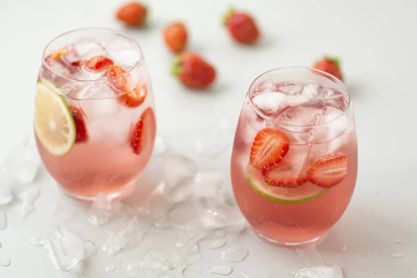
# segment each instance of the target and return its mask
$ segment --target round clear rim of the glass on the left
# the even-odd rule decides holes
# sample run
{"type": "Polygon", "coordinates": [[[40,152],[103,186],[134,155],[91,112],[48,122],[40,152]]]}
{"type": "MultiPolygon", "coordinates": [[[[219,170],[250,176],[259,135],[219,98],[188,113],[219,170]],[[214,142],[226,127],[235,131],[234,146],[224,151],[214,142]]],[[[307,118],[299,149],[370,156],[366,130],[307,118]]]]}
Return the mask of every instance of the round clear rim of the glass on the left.
{"type": "Polygon", "coordinates": [[[126,35],[125,33],[123,33],[122,31],[118,31],[116,29],[113,28],[105,28],[105,27],[84,27],[84,28],[76,28],[76,29],[72,29],[70,31],[67,31],[65,33],[61,33],[60,35],[56,36],[55,38],[53,38],[52,40],[50,40],[47,45],[44,47],[44,51],[42,52],[42,65],[51,73],[55,74],[56,76],[66,79],[68,81],[76,81],[76,82],[98,82],[98,81],[104,81],[104,80],[112,80],[112,79],[120,79],[121,76],[126,76],[128,74],[130,74],[134,69],[136,69],[140,63],[142,63],[143,60],[143,51],[142,48],[140,47],[140,44],[133,39],[131,36],[126,35]],[[68,77],[68,76],[64,76],[61,74],[58,74],[57,72],[55,72],[54,70],[51,69],[51,67],[49,67],[49,65],[47,65],[46,61],[45,61],[45,56],[46,56],[46,52],[48,47],[51,46],[51,44],[53,42],[55,42],[56,40],[58,40],[59,38],[63,38],[65,35],[71,34],[71,33],[77,33],[79,31],[106,31],[108,33],[114,33],[117,35],[122,36],[123,38],[125,38],[126,40],[129,40],[131,42],[133,42],[133,44],[135,45],[135,47],[138,47],[139,53],[140,53],[140,58],[136,61],[136,63],[129,69],[126,70],[126,72],[124,72],[123,74],[117,75],[117,76],[113,76],[111,78],[106,78],[106,79],[95,79],[95,80],[91,80],[91,79],[75,79],[72,77],[68,77]]]}

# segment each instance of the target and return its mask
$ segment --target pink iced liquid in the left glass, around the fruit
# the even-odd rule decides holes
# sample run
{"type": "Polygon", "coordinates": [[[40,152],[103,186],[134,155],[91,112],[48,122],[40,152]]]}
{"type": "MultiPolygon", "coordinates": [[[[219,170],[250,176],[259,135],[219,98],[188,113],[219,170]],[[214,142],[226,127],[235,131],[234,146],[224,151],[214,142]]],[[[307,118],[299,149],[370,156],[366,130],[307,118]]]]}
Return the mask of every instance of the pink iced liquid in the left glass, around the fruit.
{"type": "MultiPolygon", "coordinates": [[[[88,139],[75,142],[70,152],[63,156],[55,156],[48,152],[37,136],[38,150],[44,166],[70,195],[89,200],[99,193],[112,194],[114,197],[124,196],[130,193],[129,189],[133,189],[130,185],[139,177],[152,155],[156,133],[152,86],[145,64],[133,68],[136,58],[123,60],[118,57],[118,51],[110,51],[111,49],[104,47],[111,44],[117,44],[116,47],[125,46],[129,44],[126,39],[109,37],[108,42],[97,42],[82,38],[80,44],[76,42],[67,46],[71,51],[59,59],[49,56],[49,69],[42,65],[38,81],[53,82],[65,93],[63,99],[67,105],[81,111],[88,139]],[[83,54],[77,52],[79,49],[83,54]],[[136,88],[139,83],[141,86],[145,85],[145,99],[139,105],[126,105],[117,99],[124,92],[115,91],[106,80],[106,68],[93,72],[85,69],[85,63],[78,65],[78,61],[86,61],[95,56],[110,57],[114,65],[126,71],[131,70],[126,86],[136,88]],[[92,82],[70,81],[63,76],[92,82]],[[145,136],[146,139],[138,150],[132,147],[131,136],[145,111],[152,111],[152,116],[147,117],[147,122],[140,127],[140,136],[145,136]]],[[[133,51],[132,49],[128,50],[133,51]]],[[[118,81],[121,82],[122,79],[118,81]]]]}

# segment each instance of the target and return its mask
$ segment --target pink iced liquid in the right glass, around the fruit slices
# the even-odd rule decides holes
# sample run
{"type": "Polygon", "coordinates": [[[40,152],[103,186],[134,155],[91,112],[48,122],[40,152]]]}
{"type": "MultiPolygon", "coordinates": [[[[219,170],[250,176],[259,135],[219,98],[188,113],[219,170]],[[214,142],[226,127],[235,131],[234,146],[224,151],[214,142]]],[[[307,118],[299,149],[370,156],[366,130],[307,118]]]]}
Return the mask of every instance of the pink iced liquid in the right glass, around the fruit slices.
{"type": "MultiPolygon", "coordinates": [[[[308,122],[314,121],[310,115],[307,115],[308,109],[319,111],[323,107],[329,106],[329,103],[323,104],[320,101],[313,105],[310,104],[311,102],[295,106],[294,108],[285,108],[287,110],[284,113],[288,113],[288,115],[300,113],[308,122]]],[[[342,108],[341,111],[347,108],[343,101],[332,102],[331,106],[342,108]]],[[[267,112],[270,115],[273,114],[272,117],[282,115],[280,113],[283,113],[283,111],[279,110],[272,111],[272,113],[270,110],[267,112]]],[[[236,130],[231,157],[231,181],[240,211],[261,237],[284,245],[307,243],[324,236],[341,218],[350,202],[357,179],[357,137],[354,117],[352,113],[341,117],[345,118],[338,118],[338,120],[334,121],[339,128],[342,127],[341,129],[336,129],[336,126],[329,124],[331,126],[330,129],[317,129],[313,131],[313,134],[316,135],[312,137],[311,133],[300,133],[299,131],[302,128],[285,126],[287,129],[284,129],[282,125],[266,122],[256,115],[249,102],[245,101],[236,130]],[[342,152],[347,155],[346,177],[336,186],[329,188],[320,197],[296,204],[272,201],[257,193],[247,183],[247,179],[258,179],[261,183],[264,180],[261,171],[250,165],[250,149],[254,136],[265,126],[281,129],[290,138],[289,151],[281,163],[295,158],[290,161],[290,163],[295,165],[295,168],[309,168],[314,161],[325,154],[342,152]],[[288,131],[288,129],[290,130],[288,131]],[[308,144],[308,142],[311,144],[308,144]]],[[[279,118],[285,119],[285,117],[279,118]]],[[[308,129],[303,129],[303,131],[308,131],[308,129]]],[[[265,186],[268,188],[266,183],[265,186]]],[[[302,183],[298,189],[303,186],[307,189],[312,188],[311,195],[313,195],[315,190],[322,190],[322,188],[310,181],[302,183]]],[[[291,190],[298,189],[287,188],[286,191],[282,190],[280,197],[285,198],[286,193],[291,193],[291,190]]],[[[272,188],[272,190],[275,190],[275,188],[272,188]]],[[[308,191],[304,193],[305,197],[310,196],[308,191]]]]}

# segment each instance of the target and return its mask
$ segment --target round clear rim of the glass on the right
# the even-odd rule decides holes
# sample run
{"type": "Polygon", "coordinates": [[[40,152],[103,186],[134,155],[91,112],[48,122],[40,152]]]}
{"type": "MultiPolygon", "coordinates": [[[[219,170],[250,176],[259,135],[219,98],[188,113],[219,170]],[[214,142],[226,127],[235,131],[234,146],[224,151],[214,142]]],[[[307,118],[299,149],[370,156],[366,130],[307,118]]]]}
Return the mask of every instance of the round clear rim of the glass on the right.
{"type": "MultiPolygon", "coordinates": [[[[295,81],[293,81],[295,82],[295,81]]],[[[342,93],[343,93],[342,92],[342,93]]],[[[293,126],[293,127],[314,127],[314,126],[323,126],[323,125],[327,125],[335,120],[338,120],[339,118],[343,117],[345,114],[347,114],[348,111],[350,111],[350,104],[352,103],[352,97],[350,96],[350,92],[349,90],[347,90],[346,85],[339,79],[337,79],[335,76],[333,76],[332,74],[329,74],[327,72],[323,72],[322,70],[316,70],[313,69],[312,67],[302,67],[302,66],[285,66],[285,67],[275,67],[272,70],[268,70],[266,72],[263,72],[262,74],[260,74],[259,76],[256,77],[256,79],[254,79],[254,81],[252,81],[252,83],[249,86],[249,90],[247,91],[247,95],[248,95],[248,102],[251,106],[251,108],[253,109],[253,111],[256,113],[256,115],[258,115],[259,117],[261,117],[263,120],[265,120],[266,122],[272,122],[274,124],[277,124],[279,126],[293,126]],[[252,102],[252,97],[251,97],[251,92],[252,89],[256,83],[256,81],[258,81],[259,79],[261,79],[262,76],[265,76],[265,74],[271,73],[271,72],[279,72],[281,70],[307,70],[309,72],[316,72],[319,73],[321,76],[326,77],[327,79],[329,79],[330,81],[333,81],[334,83],[336,83],[337,85],[340,85],[343,92],[345,92],[347,94],[347,106],[345,107],[345,109],[343,110],[343,113],[341,113],[340,115],[338,115],[337,117],[334,117],[334,119],[326,121],[326,122],[322,122],[320,124],[306,124],[306,125],[300,125],[300,124],[287,124],[284,122],[279,122],[275,119],[272,119],[271,117],[269,117],[268,115],[265,115],[265,113],[262,113],[261,110],[259,110],[259,108],[256,107],[256,105],[253,104],[252,102]]]]}

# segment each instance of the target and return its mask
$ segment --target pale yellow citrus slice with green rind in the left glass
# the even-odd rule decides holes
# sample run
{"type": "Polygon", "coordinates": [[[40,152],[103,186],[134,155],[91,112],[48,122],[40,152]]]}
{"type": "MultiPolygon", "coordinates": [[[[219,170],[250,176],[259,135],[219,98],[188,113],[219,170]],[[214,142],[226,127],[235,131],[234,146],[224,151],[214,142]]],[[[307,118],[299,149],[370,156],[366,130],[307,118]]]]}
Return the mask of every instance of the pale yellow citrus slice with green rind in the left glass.
{"type": "Polygon", "coordinates": [[[59,89],[48,81],[36,85],[35,132],[54,156],[70,152],[76,138],[74,119],[59,89]]]}

